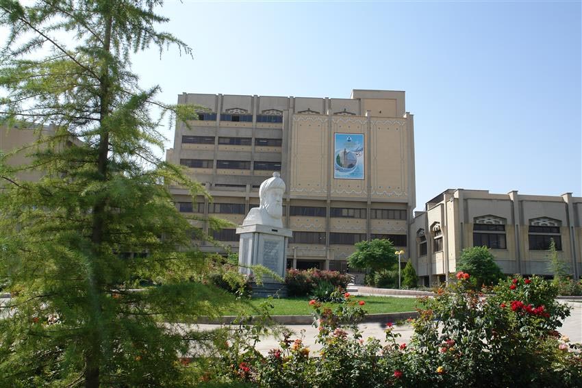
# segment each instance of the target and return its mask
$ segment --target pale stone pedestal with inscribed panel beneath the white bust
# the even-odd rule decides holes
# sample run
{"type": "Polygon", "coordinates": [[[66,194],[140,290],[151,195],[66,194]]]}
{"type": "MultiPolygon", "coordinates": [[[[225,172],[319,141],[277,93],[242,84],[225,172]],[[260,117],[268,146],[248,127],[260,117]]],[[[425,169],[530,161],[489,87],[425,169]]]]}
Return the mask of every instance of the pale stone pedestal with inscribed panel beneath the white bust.
{"type": "MultiPolygon", "coordinates": [[[[240,235],[238,263],[240,272],[250,275],[249,266],[261,265],[272,270],[285,279],[287,242],[292,236],[290,229],[270,227],[268,225],[242,225],[236,229],[240,235]]],[[[279,296],[285,296],[285,284],[270,276],[263,276],[262,286],[253,284],[253,296],[269,296],[279,290],[279,296]]]]}

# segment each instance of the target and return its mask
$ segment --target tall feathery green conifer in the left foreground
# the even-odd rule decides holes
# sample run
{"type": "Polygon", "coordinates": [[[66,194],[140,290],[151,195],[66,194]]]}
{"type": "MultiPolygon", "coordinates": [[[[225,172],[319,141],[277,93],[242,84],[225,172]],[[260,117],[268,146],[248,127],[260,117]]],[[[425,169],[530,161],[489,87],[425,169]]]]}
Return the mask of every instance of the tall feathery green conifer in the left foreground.
{"type": "Polygon", "coordinates": [[[158,0],[0,0],[10,29],[0,52],[0,120],[53,123],[27,148],[40,181],[0,163],[0,279],[14,296],[0,316],[0,376],[8,387],[185,386],[200,335],[162,322],[215,315],[224,294],[202,283],[200,233],[166,184],[206,195],[164,162],[161,107],[140,88],[131,53],[168,45],[158,0]],[[69,42],[69,43],[67,43],[69,42]],[[78,142],[77,140],[81,140],[78,142]],[[71,145],[73,142],[75,145],[71,145]],[[69,144],[66,146],[66,144],[69,144]],[[157,287],[134,291],[143,280],[157,287]],[[10,313],[7,311],[10,310],[10,313]],[[10,315],[10,316],[9,316],[10,315]]]}

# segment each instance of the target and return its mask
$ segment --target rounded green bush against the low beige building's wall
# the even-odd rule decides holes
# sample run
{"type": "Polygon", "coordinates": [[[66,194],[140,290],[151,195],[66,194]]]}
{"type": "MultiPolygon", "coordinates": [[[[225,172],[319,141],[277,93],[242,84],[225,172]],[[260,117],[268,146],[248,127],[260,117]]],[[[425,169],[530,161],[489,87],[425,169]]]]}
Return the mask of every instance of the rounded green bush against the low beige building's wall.
{"type": "Polygon", "coordinates": [[[481,285],[496,285],[503,278],[501,268],[495,262],[495,257],[486,246],[474,246],[461,251],[457,261],[457,270],[468,272],[477,287],[481,285]]]}

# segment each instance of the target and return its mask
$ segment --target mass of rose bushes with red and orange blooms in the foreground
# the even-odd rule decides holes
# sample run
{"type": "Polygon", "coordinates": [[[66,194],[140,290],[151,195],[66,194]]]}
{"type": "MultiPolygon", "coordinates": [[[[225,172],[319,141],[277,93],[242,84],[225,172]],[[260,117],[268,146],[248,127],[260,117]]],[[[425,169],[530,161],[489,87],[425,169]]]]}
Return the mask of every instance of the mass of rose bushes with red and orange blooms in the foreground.
{"type": "Polygon", "coordinates": [[[218,380],[259,387],[582,386],[582,344],[555,331],[569,314],[555,288],[516,276],[495,292],[483,298],[468,274],[422,298],[409,344],[392,323],[385,341],[362,339],[364,310],[352,296],[335,309],[313,300],[318,354],[286,333],[267,356],[249,350],[212,370],[218,380]]]}

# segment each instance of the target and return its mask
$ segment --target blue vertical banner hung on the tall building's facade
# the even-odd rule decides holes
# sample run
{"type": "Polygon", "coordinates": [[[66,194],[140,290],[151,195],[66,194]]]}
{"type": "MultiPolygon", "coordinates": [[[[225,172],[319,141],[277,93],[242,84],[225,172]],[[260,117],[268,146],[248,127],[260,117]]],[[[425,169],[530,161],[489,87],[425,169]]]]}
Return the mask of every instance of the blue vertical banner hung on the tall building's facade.
{"type": "Polygon", "coordinates": [[[335,133],[334,179],[364,179],[364,133],[335,133]]]}

